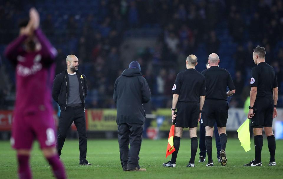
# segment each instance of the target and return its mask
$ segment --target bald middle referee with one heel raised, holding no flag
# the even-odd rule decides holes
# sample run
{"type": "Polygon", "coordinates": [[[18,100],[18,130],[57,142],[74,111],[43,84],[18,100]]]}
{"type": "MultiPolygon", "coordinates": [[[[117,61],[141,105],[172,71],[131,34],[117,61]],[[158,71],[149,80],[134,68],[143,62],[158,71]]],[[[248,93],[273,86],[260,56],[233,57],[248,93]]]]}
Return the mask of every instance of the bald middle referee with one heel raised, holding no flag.
{"type": "Polygon", "coordinates": [[[213,166],[212,160],[212,136],[213,126],[216,121],[220,137],[221,165],[226,165],[226,123],[228,118],[227,97],[235,94],[235,86],[230,73],[223,68],[219,68],[220,60],[217,54],[212,53],[208,57],[209,69],[201,72],[205,76],[206,97],[203,105],[203,125],[205,126],[205,147],[208,155],[207,167],[213,166]],[[227,86],[229,91],[226,92],[227,86]]]}

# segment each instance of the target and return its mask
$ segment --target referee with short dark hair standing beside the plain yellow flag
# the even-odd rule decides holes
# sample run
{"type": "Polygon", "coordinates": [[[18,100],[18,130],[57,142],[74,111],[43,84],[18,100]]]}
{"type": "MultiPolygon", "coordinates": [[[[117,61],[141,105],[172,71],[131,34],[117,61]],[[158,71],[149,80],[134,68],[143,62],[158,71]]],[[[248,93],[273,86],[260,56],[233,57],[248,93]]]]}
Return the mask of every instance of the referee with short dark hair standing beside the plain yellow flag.
{"type": "Polygon", "coordinates": [[[262,127],[267,137],[270,153],[269,166],[275,166],[275,137],[272,132],[272,119],[277,117],[278,84],[274,69],[265,62],[264,47],[256,46],[253,53],[254,63],[251,70],[251,92],[248,118],[254,132],[255,159],[244,166],[261,166],[263,145],[262,127]]]}

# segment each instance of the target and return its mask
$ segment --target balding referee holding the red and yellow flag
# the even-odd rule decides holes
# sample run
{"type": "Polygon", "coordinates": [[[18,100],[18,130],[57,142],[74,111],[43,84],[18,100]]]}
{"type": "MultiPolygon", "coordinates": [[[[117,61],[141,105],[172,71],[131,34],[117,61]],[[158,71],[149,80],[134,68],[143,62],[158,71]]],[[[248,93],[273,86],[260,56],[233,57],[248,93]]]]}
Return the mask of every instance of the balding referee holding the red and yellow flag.
{"type": "Polygon", "coordinates": [[[189,128],[191,138],[191,158],[187,167],[195,167],[195,155],[198,150],[197,127],[200,121],[201,110],[205,100],[205,77],[195,70],[198,64],[195,55],[189,55],[186,60],[185,71],[177,74],[172,89],[172,120],[176,119],[174,147],[175,152],[164,167],[176,167],[176,159],[180,147],[183,128],[189,128]],[[176,106],[177,105],[177,106],[176,106]],[[177,115],[174,114],[177,108],[177,115]]]}

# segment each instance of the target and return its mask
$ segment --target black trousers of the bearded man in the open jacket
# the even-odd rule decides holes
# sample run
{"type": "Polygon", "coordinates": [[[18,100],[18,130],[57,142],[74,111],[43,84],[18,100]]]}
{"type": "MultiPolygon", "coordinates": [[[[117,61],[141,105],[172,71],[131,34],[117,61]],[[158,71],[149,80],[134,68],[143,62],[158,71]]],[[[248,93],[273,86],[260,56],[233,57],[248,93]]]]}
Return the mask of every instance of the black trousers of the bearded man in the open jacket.
{"type": "Polygon", "coordinates": [[[83,106],[66,107],[66,110],[61,110],[59,130],[57,137],[57,150],[59,156],[63,148],[66,134],[71,124],[75,122],[79,134],[80,161],[86,158],[86,127],[85,127],[85,111],[83,106]]]}

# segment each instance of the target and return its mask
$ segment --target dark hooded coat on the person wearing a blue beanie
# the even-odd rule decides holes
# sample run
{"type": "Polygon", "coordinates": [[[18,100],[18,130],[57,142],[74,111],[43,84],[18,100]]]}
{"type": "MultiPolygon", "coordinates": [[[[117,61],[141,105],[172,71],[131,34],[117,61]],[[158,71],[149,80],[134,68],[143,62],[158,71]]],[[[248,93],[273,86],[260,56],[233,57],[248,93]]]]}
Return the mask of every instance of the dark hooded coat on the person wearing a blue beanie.
{"type": "Polygon", "coordinates": [[[113,99],[117,104],[117,124],[143,124],[145,113],[142,104],[150,100],[147,80],[137,68],[125,69],[114,85],[113,99]]]}

